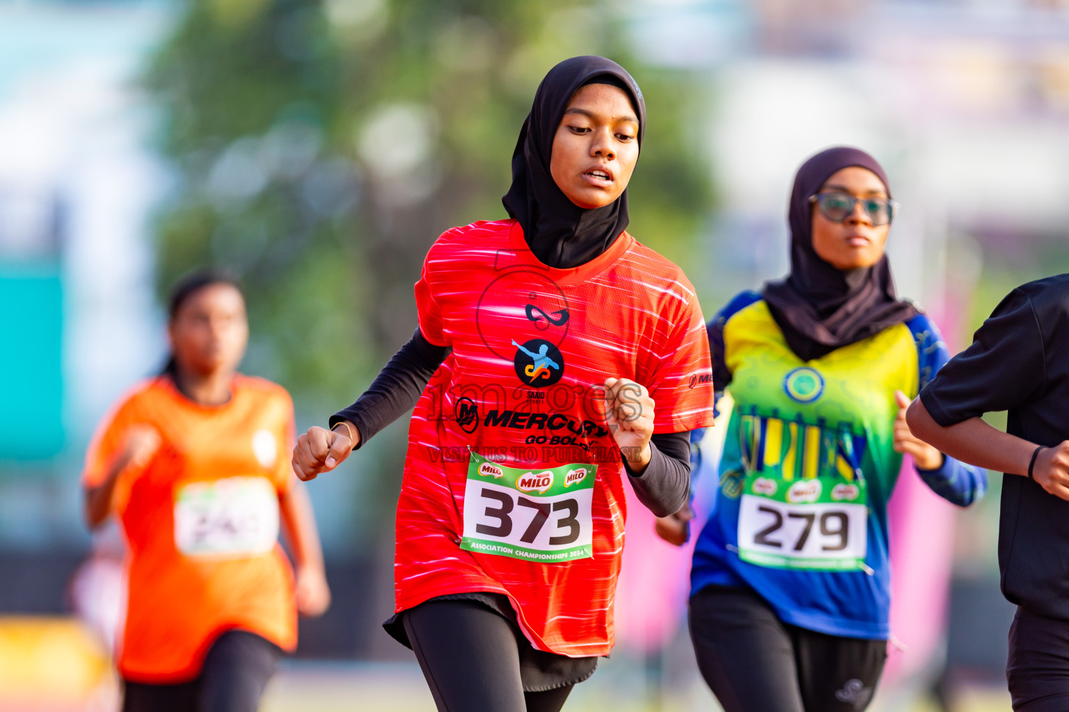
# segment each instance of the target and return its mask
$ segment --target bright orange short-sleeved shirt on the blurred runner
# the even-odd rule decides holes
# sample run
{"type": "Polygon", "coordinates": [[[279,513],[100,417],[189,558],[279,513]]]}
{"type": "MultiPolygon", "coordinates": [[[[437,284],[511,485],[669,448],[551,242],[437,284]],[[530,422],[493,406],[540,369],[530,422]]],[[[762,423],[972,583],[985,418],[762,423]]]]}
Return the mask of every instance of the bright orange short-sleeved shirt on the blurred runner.
{"type": "Polygon", "coordinates": [[[155,428],[161,443],[144,468],[127,469],[114,490],[113,511],[128,548],[120,674],[146,683],[190,680],[230,629],[293,650],[293,572],[277,540],[279,496],[293,478],[289,394],[238,375],[230,401],[207,407],[167,377],[141,383],[94,437],[87,486],[104,481],[135,425],[155,428]]]}

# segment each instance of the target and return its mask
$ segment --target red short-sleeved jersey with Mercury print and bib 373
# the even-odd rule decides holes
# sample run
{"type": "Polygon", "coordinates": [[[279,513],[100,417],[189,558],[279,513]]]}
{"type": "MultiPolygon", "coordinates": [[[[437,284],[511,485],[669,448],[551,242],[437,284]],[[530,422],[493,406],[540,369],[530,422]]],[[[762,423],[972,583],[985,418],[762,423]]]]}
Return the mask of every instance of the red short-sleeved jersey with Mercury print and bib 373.
{"type": "Polygon", "coordinates": [[[416,301],[420,331],[452,352],[409,428],[397,611],[500,592],[534,647],[607,654],[626,475],[592,386],[647,386],[657,432],[711,426],[694,287],[626,233],[585,265],[546,267],[502,220],[443,234],[416,301]]]}

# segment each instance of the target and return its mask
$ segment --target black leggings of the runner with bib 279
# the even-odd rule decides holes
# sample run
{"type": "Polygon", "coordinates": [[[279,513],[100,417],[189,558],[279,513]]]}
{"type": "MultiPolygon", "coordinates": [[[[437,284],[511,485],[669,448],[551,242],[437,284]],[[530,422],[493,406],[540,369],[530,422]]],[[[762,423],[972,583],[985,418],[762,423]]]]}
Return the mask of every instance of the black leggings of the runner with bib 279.
{"type": "Polygon", "coordinates": [[[886,640],[788,626],[748,588],[702,588],[690,618],[698,668],[725,712],[858,712],[887,659],[886,640]]]}

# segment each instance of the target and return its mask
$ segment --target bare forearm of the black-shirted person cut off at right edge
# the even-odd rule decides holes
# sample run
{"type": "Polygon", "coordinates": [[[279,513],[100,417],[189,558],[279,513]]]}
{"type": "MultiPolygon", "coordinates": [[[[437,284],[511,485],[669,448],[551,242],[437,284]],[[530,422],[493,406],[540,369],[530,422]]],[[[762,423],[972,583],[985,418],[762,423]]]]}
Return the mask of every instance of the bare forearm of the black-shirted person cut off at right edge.
{"type": "Polygon", "coordinates": [[[905,418],[913,434],[961,462],[1011,475],[1028,473],[1036,444],[1003,432],[979,417],[943,427],[915,399],[905,418]]]}

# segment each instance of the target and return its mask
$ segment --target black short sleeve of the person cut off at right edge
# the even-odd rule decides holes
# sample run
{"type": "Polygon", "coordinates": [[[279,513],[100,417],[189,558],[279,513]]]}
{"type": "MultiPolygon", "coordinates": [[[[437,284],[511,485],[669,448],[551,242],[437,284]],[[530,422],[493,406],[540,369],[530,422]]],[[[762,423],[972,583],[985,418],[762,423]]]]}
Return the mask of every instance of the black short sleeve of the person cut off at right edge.
{"type": "Polygon", "coordinates": [[[1043,336],[1032,299],[1011,291],[920,392],[932,420],[947,427],[1036,398],[1047,381],[1043,336]]]}

